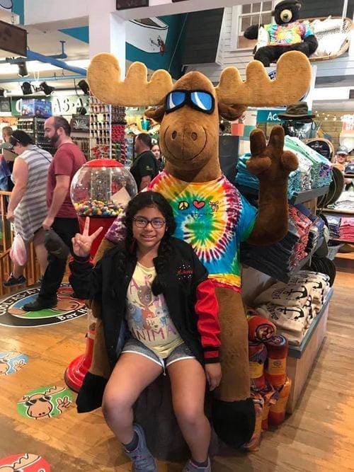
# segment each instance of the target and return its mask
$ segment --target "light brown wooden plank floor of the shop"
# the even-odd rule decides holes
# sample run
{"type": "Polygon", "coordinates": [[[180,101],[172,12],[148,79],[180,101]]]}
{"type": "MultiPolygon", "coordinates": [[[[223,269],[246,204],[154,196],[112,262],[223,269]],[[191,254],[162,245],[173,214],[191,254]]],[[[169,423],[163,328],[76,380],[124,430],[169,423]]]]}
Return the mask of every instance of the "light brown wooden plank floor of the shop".
{"type": "MultiPolygon", "coordinates": [[[[214,472],[354,470],[354,276],[338,272],[327,335],[295,413],[265,432],[258,452],[217,456],[214,472]]],[[[101,410],[74,406],[51,420],[26,420],[16,402],[27,391],[64,385],[69,362],[84,352],[86,317],[43,328],[0,326],[0,352],[29,357],[21,372],[0,377],[0,457],[43,456],[54,472],[130,471],[130,462],[105,425],[101,410]]],[[[177,472],[182,464],[159,464],[177,472]]]]}

